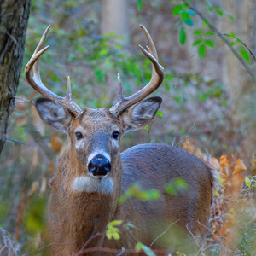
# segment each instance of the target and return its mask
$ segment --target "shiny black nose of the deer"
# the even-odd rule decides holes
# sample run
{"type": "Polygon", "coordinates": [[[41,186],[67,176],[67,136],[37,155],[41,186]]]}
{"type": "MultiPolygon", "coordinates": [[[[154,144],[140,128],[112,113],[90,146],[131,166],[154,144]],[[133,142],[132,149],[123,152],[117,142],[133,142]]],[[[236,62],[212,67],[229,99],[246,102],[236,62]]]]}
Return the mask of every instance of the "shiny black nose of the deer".
{"type": "Polygon", "coordinates": [[[111,170],[111,164],[104,155],[97,154],[92,160],[90,160],[88,170],[93,174],[93,176],[107,175],[111,170]]]}

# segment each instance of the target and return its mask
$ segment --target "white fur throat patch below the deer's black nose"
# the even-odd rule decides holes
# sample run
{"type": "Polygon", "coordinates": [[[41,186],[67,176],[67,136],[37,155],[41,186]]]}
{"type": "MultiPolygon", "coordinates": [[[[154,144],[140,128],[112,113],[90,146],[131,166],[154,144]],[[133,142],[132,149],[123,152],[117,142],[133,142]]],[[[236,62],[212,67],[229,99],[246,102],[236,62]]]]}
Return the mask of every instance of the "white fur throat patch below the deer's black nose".
{"type": "Polygon", "coordinates": [[[77,177],[73,181],[73,189],[77,192],[113,193],[113,180],[111,177],[96,178],[90,176],[77,177]]]}

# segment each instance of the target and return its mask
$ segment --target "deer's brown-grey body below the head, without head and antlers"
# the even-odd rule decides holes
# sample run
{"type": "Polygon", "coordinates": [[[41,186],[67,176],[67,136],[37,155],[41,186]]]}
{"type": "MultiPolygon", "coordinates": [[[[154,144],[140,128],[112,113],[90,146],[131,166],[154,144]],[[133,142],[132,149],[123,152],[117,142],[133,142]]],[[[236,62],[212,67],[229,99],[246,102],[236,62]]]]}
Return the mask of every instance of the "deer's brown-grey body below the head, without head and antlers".
{"type": "MultiPolygon", "coordinates": [[[[65,166],[60,162],[59,171],[51,184],[47,241],[61,244],[52,249],[53,255],[78,252],[91,236],[98,232],[104,233],[108,222],[115,219],[130,221],[136,227],[132,230],[132,236],[123,230],[119,241],[104,240],[102,236],[92,240],[89,247],[132,248],[137,241],[149,246],[156,236],[175,221],[179,227],[183,230],[188,228],[195,236],[202,238],[204,235],[212,201],[212,172],[194,155],[160,143],[127,149],[121,154],[122,165],[112,170],[119,174],[113,177],[113,183],[120,184],[123,177],[123,192],[130,185],[139,183],[143,189],[159,189],[162,195],[159,201],[142,202],[131,198],[124,205],[117,206],[116,200],[121,195],[120,186],[109,194],[102,191],[74,191],[67,168],[75,169],[76,166],[73,166],[72,161],[67,166],[66,157],[69,154],[67,150],[62,155],[65,166]],[[157,174],[159,166],[162,169],[157,174]],[[120,175],[119,168],[123,169],[123,175],[120,175]],[[166,183],[175,177],[182,177],[189,184],[189,190],[183,195],[165,193],[166,183]],[[62,183],[55,183],[55,180],[62,183]]],[[[170,238],[166,235],[166,239],[170,238]]]]}

